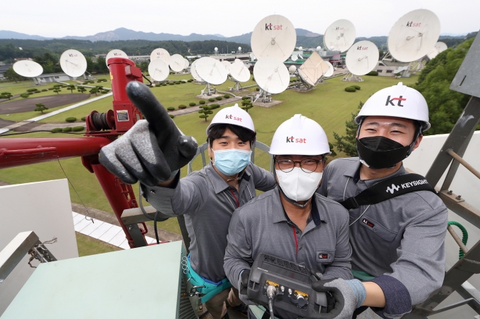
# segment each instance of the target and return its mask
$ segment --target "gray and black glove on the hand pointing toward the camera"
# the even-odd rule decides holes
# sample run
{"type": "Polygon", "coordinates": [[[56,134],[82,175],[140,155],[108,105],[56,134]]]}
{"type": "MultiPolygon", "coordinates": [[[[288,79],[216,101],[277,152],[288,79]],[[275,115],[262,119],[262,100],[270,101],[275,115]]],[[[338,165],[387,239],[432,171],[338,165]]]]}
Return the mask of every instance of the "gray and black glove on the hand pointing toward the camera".
{"type": "Polygon", "coordinates": [[[172,179],[197,151],[193,137],[184,136],[150,89],[132,81],[128,98],[146,120],[139,120],[122,137],[102,147],[100,163],[122,182],[147,186],[172,179]]]}

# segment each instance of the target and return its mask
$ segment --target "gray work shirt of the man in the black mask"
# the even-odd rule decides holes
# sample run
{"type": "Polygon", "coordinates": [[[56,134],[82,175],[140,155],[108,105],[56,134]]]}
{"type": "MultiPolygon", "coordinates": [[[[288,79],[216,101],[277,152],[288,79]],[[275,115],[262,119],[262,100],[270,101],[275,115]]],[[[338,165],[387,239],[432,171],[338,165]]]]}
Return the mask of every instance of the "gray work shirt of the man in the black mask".
{"type": "MultiPolygon", "coordinates": [[[[343,201],[382,180],[407,173],[402,165],[388,177],[360,180],[360,165],[358,157],[332,161],[323,171],[317,192],[343,201]]],[[[407,313],[441,287],[448,211],[436,194],[411,192],[350,209],[349,214],[350,224],[354,223],[350,226],[352,269],[376,277],[371,281],[385,294],[386,306],[374,309],[377,313],[407,313]]]]}

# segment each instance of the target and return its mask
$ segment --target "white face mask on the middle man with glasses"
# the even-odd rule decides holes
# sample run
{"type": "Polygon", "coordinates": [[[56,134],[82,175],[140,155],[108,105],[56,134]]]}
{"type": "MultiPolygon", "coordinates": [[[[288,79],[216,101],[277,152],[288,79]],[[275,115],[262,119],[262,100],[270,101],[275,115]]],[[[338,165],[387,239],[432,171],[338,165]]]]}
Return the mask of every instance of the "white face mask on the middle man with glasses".
{"type": "Polygon", "coordinates": [[[293,201],[306,201],[318,189],[318,184],[323,173],[306,173],[301,168],[294,168],[289,173],[283,170],[275,170],[278,184],[284,194],[293,201]]]}

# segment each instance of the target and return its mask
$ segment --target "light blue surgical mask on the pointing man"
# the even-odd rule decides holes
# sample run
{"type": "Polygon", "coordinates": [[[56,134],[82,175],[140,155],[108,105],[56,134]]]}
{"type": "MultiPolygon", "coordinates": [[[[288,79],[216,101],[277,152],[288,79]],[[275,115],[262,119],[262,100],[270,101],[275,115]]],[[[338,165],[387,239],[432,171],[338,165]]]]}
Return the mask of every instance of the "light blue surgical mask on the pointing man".
{"type": "Polygon", "coordinates": [[[246,165],[250,163],[252,151],[221,149],[219,151],[213,151],[213,154],[215,154],[215,162],[213,165],[220,170],[220,173],[232,176],[246,168],[246,165]]]}

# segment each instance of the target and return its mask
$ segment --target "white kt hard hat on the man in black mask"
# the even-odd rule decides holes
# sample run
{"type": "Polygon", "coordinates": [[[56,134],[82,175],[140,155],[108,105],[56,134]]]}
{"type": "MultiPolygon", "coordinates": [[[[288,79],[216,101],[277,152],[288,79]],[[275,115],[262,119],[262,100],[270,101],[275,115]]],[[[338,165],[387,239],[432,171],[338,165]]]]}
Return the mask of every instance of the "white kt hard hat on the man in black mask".
{"type": "Polygon", "coordinates": [[[422,131],[430,128],[428,106],[424,96],[416,89],[403,85],[402,82],[380,89],[370,96],[356,116],[355,123],[360,124],[362,118],[370,115],[409,118],[423,122],[422,131]]]}

